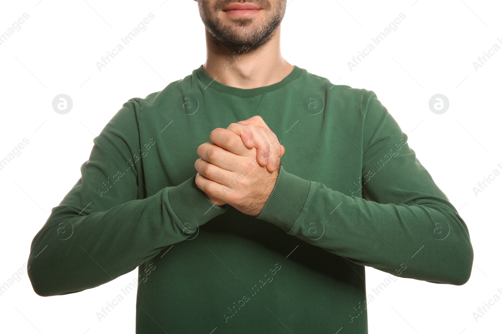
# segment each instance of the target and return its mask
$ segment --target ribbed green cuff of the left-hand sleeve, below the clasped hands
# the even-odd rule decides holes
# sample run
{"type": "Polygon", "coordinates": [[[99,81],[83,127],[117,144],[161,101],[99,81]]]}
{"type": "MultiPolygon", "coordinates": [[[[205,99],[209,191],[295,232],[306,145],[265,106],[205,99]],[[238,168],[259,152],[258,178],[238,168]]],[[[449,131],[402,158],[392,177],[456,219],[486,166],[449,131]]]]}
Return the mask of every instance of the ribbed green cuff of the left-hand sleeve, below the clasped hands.
{"type": "Polygon", "coordinates": [[[182,228],[187,227],[190,230],[196,230],[198,226],[226,211],[226,204],[214,205],[197,187],[196,175],[167,191],[169,206],[183,224],[182,228]]]}

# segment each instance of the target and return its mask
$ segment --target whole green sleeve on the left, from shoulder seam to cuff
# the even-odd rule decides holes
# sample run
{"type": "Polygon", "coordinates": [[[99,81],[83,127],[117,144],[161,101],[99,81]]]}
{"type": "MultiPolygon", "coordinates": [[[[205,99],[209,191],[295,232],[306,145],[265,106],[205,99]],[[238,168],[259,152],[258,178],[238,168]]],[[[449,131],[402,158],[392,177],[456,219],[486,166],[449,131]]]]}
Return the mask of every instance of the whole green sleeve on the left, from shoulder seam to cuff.
{"type": "Polygon", "coordinates": [[[155,145],[155,138],[140,143],[139,120],[139,102],[124,103],[94,138],[81,178],[35,235],[28,274],[37,294],[67,294],[108,282],[226,211],[197,187],[195,173],[138,198],[144,186],[139,160],[155,145]]]}

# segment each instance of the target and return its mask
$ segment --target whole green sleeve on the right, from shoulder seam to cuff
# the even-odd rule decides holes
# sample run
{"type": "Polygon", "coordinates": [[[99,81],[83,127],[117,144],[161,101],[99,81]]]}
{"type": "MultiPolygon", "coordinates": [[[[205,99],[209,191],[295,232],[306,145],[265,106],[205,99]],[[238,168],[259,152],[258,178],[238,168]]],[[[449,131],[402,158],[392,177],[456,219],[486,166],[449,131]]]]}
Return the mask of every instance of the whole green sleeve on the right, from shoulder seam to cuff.
{"type": "Polygon", "coordinates": [[[361,105],[364,198],[281,166],[257,218],[357,264],[434,283],[466,283],[473,249],[465,222],[374,92],[365,91],[361,105]]]}

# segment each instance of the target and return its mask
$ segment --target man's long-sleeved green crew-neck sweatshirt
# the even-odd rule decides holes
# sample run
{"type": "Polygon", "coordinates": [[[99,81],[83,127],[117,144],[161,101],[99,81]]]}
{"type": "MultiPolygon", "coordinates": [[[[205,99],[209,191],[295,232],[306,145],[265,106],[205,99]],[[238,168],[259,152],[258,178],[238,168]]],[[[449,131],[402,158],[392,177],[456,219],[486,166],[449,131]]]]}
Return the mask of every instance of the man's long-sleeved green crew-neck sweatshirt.
{"type": "Polygon", "coordinates": [[[201,66],[124,103],[94,138],[33,239],[33,289],[78,292],[138,267],[138,333],[365,333],[385,286],[366,293],[364,266],[454,285],[471,273],[467,226],[407,140],[372,91],[297,66],[239,89],[201,66]],[[249,216],[213,205],[194,163],[213,129],[254,114],[286,153],[249,216]]]}

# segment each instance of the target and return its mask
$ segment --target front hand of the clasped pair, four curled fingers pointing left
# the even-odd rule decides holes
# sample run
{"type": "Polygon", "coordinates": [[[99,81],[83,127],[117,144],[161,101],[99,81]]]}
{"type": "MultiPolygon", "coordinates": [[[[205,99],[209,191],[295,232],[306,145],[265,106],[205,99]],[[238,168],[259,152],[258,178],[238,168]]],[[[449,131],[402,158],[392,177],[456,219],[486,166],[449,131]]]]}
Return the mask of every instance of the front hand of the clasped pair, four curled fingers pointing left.
{"type": "Polygon", "coordinates": [[[247,148],[234,132],[216,128],[212,143],[197,148],[195,183],[210,196],[242,213],[258,216],[270,197],[279,168],[269,172],[257,163],[257,149],[247,148]]]}

